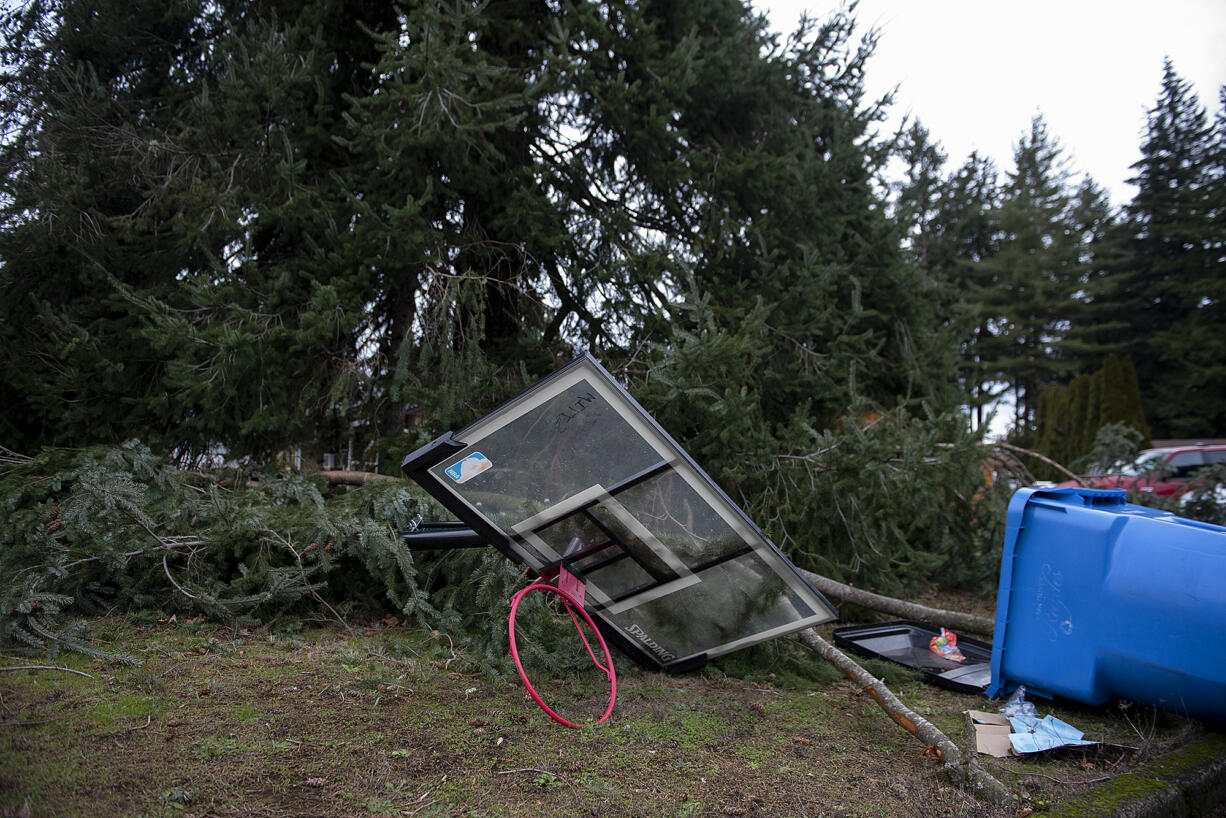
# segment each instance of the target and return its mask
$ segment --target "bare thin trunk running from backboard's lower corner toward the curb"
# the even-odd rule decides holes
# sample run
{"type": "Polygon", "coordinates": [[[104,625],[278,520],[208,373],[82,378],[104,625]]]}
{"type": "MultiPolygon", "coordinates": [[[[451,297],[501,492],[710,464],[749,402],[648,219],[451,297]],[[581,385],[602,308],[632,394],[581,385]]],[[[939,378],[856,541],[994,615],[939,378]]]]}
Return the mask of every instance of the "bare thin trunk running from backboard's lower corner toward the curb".
{"type": "Polygon", "coordinates": [[[983,769],[978,758],[964,754],[950,738],[931,721],[902,704],[880,679],[852,661],[841,650],[828,643],[809,628],[801,632],[801,641],[808,645],[818,656],[834,665],[839,671],[863,686],[878,706],[881,708],[899,726],[933,748],[938,759],[945,764],[945,774],[959,785],[967,786],[978,798],[994,805],[1010,801],[1009,790],[999,780],[983,769]]]}

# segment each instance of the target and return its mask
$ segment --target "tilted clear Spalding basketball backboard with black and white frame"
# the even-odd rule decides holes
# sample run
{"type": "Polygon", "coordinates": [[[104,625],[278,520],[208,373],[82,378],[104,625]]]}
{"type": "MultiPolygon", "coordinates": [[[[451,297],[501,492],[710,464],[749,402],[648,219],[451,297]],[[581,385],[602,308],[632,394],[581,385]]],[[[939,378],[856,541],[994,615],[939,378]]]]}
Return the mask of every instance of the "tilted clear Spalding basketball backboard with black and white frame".
{"type": "Polygon", "coordinates": [[[403,468],[516,562],[565,563],[644,665],[687,670],[837,616],[591,356],[403,468]]]}

